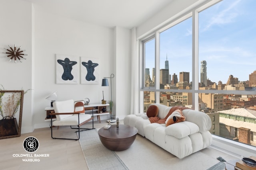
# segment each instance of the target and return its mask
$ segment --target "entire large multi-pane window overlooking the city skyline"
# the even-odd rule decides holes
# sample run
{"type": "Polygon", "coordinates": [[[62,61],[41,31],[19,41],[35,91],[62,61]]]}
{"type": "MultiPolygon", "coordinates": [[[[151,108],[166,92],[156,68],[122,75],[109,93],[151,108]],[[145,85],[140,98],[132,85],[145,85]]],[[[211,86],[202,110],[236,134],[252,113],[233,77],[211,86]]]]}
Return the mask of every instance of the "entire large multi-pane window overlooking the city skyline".
{"type": "Polygon", "coordinates": [[[191,10],[142,41],[144,108],[160,103],[208,112],[212,134],[246,143],[239,140],[245,123],[251,141],[256,138],[255,116],[248,116],[256,113],[256,1],[217,2],[191,10]]]}

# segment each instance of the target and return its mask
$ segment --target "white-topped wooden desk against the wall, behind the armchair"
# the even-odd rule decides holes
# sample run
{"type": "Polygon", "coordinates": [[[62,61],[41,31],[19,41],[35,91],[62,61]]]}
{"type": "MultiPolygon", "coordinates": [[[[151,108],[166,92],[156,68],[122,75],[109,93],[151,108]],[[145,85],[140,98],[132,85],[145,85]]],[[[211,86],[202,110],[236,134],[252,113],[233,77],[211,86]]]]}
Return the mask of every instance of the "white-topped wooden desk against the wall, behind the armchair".
{"type": "MultiPolygon", "coordinates": [[[[109,106],[109,104],[89,104],[89,105],[84,105],[84,109],[85,109],[85,114],[90,114],[92,115],[92,111],[93,111],[93,116],[97,116],[98,121],[100,121],[100,115],[108,115],[109,112],[105,111],[105,112],[101,112],[101,109],[103,107],[107,107],[109,106]]],[[[53,107],[45,107],[44,110],[46,111],[46,118],[44,119],[44,121],[50,121],[51,118],[47,118],[48,115],[50,115],[51,111],[54,111],[53,107]]],[[[52,120],[56,120],[56,117],[54,115],[52,120]]],[[[101,122],[100,122],[101,123],[101,122]]]]}

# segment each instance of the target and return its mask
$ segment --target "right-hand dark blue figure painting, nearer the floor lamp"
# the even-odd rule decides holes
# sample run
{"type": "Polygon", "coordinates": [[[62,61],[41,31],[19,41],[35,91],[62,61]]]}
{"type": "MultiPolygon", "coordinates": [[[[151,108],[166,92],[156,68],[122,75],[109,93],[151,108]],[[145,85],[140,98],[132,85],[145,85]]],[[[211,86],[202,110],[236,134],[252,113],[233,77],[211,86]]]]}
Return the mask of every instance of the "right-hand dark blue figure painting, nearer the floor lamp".
{"type": "Polygon", "coordinates": [[[99,65],[99,59],[91,57],[81,57],[81,84],[99,84],[99,65]]]}

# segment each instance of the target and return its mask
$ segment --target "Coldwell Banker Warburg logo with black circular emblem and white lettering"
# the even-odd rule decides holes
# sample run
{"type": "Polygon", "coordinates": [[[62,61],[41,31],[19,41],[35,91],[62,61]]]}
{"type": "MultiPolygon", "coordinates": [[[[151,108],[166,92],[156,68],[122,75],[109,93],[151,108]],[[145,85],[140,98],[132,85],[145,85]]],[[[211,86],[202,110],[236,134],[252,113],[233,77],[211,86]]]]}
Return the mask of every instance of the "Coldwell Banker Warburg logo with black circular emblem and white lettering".
{"type": "Polygon", "coordinates": [[[23,148],[28,154],[13,154],[13,157],[22,158],[23,162],[40,162],[40,157],[50,157],[50,154],[31,154],[39,148],[39,142],[35,137],[27,137],[23,141],[23,148]]]}

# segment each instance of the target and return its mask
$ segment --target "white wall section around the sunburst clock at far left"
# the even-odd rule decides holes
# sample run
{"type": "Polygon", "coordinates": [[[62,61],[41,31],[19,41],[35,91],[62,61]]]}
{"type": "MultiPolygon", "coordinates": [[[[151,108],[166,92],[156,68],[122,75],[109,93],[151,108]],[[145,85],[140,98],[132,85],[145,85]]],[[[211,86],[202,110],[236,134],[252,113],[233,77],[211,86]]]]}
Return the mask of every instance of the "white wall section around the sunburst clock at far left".
{"type": "MultiPolygon", "coordinates": [[[[32,88],[32,5],[20,0],[0,1],[0,84],[5,90],[28,90],[32,88]],[[28,54],[23,62],[9,62],[4,48],[22,46],[28,54]]],[[[22,133],[32,129],[32,90],[24,96],[22,133]]]]}

